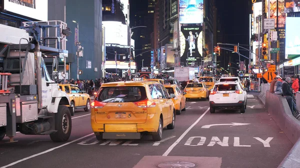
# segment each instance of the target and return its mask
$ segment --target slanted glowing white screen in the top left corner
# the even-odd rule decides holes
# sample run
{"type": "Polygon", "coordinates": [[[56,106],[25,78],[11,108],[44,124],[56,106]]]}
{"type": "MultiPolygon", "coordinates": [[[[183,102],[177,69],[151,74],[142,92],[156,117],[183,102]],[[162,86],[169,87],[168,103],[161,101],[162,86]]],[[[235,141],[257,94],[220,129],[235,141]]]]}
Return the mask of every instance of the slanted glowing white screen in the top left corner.
{"type": "Polygon", "coordinates": [[[4,0],[4,10],[41,21],[48,20],[48,0],[4,0]]]}

